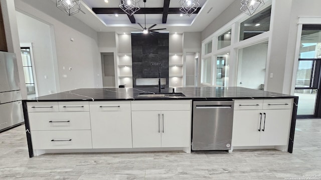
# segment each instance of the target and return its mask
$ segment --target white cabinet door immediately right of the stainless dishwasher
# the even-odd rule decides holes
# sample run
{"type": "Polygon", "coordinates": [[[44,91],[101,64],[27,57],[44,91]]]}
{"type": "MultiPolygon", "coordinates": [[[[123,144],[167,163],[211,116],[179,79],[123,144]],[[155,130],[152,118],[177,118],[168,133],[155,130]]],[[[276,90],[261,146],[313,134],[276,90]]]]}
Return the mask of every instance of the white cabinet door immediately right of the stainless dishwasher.
{"type": "Polygon", "coordinates": [[[261,110],[234,111],[232,146],[259,145],[260,113],[261,110]]]}

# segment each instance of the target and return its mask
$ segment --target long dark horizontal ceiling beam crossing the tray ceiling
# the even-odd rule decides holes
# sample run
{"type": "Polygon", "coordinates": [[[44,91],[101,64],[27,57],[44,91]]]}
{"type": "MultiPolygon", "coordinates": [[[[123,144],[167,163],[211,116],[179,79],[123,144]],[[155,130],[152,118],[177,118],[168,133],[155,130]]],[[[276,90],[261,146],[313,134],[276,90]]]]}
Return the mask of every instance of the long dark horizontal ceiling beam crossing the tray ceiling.
{"type": "MultiPolygon", "coordinates": [[[[114,8],[106,8],[106,7],[93,7],[92,10],[96,14],[125,14],[125,12],[118,7],[114,8]]],[[[201,10],[201,7],[198,7],[195,12],[198,13],[201,10]]],[[[140,8],[138,11],[135,12],[135,14],[163,14],[164,8],[163,7],[146,7],[146,8],[140,8]]],[[[183,13],[180,11],[179,7],[172,7],[169,8],[168,14],[180,14],[183,13]]],[[[132,16],[132,15],[131,15],[132,16]]]]}

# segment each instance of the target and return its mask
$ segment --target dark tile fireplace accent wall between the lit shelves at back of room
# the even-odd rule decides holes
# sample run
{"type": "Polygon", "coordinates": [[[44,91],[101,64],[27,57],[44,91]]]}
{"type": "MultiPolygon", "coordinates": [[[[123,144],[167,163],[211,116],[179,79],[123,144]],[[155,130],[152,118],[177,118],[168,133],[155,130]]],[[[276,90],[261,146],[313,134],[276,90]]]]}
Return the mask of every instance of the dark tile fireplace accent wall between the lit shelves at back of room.
{"type": "Polygon", "coordinates": [[[136,85],[136,78],[157,78],[158,63],[161,63],[161,77],[166,78],[165,87],[169,87],[169,35],[131,33],[133,87],[142,87],[136,85]]]}

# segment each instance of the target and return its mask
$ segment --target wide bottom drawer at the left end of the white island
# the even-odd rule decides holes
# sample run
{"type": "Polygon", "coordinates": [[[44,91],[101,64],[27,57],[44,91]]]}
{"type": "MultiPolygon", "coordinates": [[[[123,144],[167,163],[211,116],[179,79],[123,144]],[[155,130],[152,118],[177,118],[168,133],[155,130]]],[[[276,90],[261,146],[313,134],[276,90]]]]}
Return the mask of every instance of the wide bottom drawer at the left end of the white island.
{"type": "Polygon", "coordinates": [[[92,148],[90,130],[31,131],[34,149],[92,148]]]}

